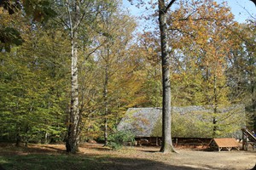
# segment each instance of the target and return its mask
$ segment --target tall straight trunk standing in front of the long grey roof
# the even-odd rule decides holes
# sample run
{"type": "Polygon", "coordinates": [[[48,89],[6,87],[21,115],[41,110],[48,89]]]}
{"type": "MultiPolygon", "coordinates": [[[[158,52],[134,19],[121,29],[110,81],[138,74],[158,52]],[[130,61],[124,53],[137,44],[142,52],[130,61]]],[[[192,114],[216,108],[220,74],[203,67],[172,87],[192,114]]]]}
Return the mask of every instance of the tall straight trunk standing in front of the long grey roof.
{"type": "Polygon", "coordinates": [[[159,0],[159,22],[160,22],[162,86],[163,86],[162,145],[161,145],[160,151],[164,153],[175,151],[172,145],[172,134],[171,134],[172,109],[171,109],[170,55],[168,54],[168,43],[167,43],[167,23],[166,23],[167,9],[168,8],[166,8],[165,0],[159,0]]]}

